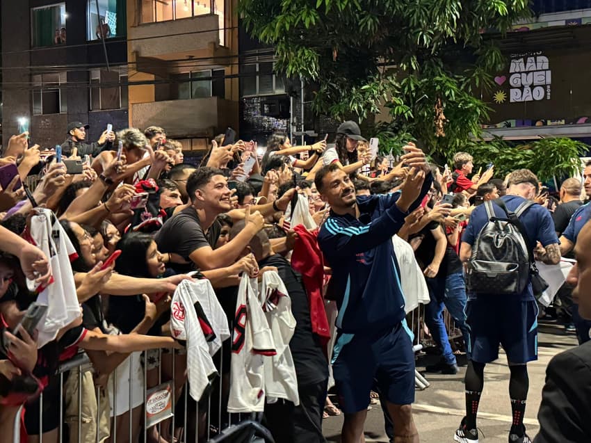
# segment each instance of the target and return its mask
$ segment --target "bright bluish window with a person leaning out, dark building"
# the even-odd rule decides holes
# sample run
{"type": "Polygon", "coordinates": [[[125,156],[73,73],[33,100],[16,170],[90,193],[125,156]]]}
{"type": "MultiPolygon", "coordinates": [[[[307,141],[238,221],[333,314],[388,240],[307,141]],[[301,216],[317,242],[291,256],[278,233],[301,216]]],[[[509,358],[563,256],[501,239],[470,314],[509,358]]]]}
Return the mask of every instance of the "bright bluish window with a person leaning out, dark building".
{"type": "Polygon", "coordinates": [[[88,0],[86,5],[86,39],[124,37],[126,34],[125,0],[88,0]]]}

